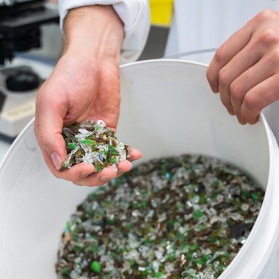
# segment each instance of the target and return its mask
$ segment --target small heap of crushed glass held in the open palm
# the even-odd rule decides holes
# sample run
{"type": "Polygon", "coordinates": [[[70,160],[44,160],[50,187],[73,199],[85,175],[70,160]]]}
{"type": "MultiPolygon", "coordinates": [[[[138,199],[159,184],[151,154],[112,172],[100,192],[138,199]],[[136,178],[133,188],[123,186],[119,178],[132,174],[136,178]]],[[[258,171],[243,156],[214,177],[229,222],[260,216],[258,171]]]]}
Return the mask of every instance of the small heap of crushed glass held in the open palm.
{"type": "Polygon", "coordinates": [[[66,142],[67,157],[61,170],[78,163],[92,163],[96,172],[112,166],[130,157],[130,146],[119,142],[114,131],[102,120],[73,123],[63,127],[63,138],[66,142]]]}

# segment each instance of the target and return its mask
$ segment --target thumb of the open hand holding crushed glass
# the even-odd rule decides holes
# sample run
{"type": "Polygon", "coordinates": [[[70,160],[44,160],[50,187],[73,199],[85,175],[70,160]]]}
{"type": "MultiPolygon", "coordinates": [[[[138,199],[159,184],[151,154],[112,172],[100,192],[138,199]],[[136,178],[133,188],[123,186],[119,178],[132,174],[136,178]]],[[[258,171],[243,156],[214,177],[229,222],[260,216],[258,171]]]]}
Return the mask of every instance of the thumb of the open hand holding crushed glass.
{"type": "Polygon", "coordinates": [[[56,108],[55,100],[52,101],[51,104],[45,101],[41,103],[40,100],[36,102],[34,130],[45,162],[54,171],[54,168],[61,169],[67,151],[61,134],[63,112],[59,111],[58,107],[56,108]]]}

